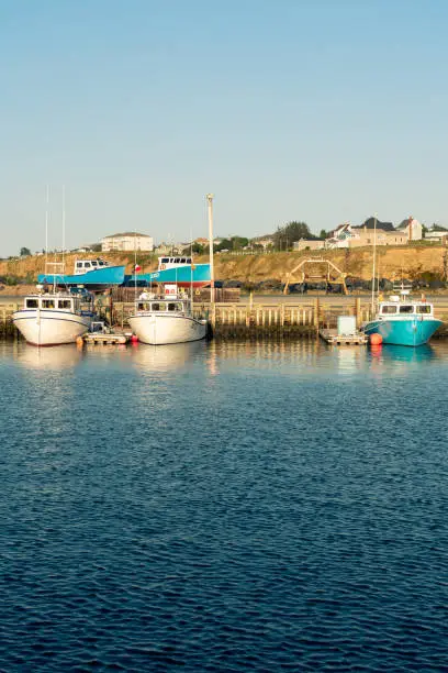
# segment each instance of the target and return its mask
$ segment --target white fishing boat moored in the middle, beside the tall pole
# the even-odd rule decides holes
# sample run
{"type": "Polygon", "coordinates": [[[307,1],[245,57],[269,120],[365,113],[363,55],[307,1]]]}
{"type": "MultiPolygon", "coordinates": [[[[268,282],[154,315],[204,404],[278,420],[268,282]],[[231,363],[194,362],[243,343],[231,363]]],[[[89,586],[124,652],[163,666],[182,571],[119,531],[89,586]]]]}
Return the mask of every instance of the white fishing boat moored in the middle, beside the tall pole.
{"type": "MultiPolygon", "coordinates": [[[[146,295],[146,293],[144,293],[146,295]]],[[[206,334],[206,320],[195,318],[190,301],[184,299],[152,299],[141,295],[137,310],[128,322],[138,341],[152,345],[199,341],[206,334]]]]}

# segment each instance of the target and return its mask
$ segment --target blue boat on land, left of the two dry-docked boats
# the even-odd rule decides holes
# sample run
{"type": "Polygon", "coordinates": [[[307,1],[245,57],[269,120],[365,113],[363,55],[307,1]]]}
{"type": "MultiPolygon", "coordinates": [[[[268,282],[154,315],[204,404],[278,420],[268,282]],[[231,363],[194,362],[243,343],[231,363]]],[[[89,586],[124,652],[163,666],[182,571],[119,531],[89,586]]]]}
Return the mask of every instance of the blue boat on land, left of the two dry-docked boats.
{"type": "Polygon", "coordinates": [[[74,274],[40,274],[41,285],[70,287],[83,285],[89,290],[103,290],[124,282],[124,266],[110,266],[104,260],[77,260],[74,274]]]}

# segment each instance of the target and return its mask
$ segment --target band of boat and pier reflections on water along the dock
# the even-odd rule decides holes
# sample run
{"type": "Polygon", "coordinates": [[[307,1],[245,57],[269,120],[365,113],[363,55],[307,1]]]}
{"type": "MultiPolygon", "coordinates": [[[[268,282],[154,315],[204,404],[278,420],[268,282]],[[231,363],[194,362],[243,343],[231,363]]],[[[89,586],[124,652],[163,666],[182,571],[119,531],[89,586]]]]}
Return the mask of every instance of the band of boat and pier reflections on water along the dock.
{"type": "Polygon", "coordinates": [[[108,368],[125,369],[130,365],[142,373],[176,372],[186,367],[203,368],[211,377],[225,371],[251,369],[283,376],[318,377],[338,372],[344,376],[365,375],[369,371],[412,372],[421,363],[448,358],[448,343],[433,342],[417,349],[407,346],[328,346],[315,339],[299,341],[195,341],[170,345],[146,344],[94,346],[76,345],[37,349],[21,341],[1,342],[0,357],[15,360],[24,369],[58,371],[98,363],[108,368]]]}

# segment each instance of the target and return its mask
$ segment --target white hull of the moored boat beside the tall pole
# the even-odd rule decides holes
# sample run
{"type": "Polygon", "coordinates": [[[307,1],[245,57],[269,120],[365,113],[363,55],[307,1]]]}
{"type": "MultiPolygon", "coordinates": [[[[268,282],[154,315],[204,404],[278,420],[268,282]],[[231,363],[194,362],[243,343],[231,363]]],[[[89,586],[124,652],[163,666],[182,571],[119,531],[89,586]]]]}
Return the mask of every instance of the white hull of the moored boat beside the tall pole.
{"type": "Polygon", "coordinates": [[[205,320],[176,313],[131,316],[130,326],[138,341],[152,345],[199,341],[206,333],[205,320]]]}

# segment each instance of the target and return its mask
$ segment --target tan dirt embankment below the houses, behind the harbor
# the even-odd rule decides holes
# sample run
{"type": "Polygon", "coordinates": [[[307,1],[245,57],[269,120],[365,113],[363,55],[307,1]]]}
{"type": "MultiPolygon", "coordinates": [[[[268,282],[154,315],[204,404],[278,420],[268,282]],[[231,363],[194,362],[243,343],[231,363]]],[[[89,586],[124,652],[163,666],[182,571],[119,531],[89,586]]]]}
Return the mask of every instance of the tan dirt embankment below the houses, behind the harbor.
{"type": "MultiPolygon", "coordinates": [[[[75,261],[82,258],[81,254],[66,255],[66,271],[72,273],[75,261]]],[[[87,258],[91,255],[85,255],[87,258]]],[[[126,273],[132,273],[134,254],[104,253],[101,255],[111,264],[124,264],[126,273]]],[[[372,275],[372,249],[334,250],[323,253],[303,251],[301,253],[271,253],[266,255],[216,255],[215,278],[221,280],[240,280],[242,283],[259,283],[276,279],[285,282],[291,274],[291,282],[301,280],[300,272],[294,276],[294,268],[311,257],[324,257],[335,264],[341,272],[355,278],[369,280],[372,275]]],[[[60,261],[60,257],[59,257],[60,261]]],[[[195,262],[206,263],[206,256],[197,257],[195,262]]],[[[137,262],[142,272],[147,273],[157,268],[157,256],[137,254],[137,262]]],[[[0,262],[0,277],[26,280],[33,284],[37,274],[45,271],[45,256],[30,256],[0,262]]],[[[419,246],[381,246],[377,249],[377,276],[380,278],[408,278],[408,279],[439,279],[448,278],[448,247],[436,245],[419,246]]],[[[2,284],[3,285],[3,284],[2,284]]],[[[21,286],[19,286],[20,288],[21,286]]],[[[3,294],[15,294],[20,289],[3,285],[3,294]]]]}

